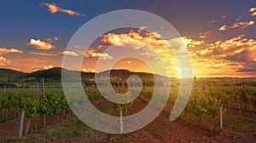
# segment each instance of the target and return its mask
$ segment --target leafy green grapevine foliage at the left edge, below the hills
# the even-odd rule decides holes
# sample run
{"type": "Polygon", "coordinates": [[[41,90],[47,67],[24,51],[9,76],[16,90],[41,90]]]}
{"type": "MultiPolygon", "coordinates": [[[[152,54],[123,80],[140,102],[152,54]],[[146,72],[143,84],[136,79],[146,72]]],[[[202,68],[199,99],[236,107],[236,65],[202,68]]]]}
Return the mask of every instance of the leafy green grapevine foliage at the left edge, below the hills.
{"type": "Polygon", "coordinates": [[[44,94],[38,94],[33,89],[9,89],[7,92],[0,92],[0,108],[10,109],[20,106],[26,111],[26,115],[38,118],[39,113],[53,115],[65,109],[69,112],[69,106],[61,89],[47,89],[44,94]]]}

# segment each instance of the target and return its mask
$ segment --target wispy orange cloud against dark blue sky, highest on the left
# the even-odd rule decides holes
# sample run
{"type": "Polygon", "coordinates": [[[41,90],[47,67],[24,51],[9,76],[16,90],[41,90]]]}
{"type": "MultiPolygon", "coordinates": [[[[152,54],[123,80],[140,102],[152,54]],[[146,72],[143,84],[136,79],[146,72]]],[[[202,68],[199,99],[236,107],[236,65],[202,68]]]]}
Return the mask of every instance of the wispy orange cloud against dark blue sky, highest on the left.
{"type": "Polygon", "coordinates": [[[69,15],[76,15],[76,16],[85,16],[85,14],[79,14],[73,10],[69,9],[61,9],[55,3],[42,3],[43,6],[46,6],[51,14],[55,14],[56,12],[67,13],[69,15]]]}

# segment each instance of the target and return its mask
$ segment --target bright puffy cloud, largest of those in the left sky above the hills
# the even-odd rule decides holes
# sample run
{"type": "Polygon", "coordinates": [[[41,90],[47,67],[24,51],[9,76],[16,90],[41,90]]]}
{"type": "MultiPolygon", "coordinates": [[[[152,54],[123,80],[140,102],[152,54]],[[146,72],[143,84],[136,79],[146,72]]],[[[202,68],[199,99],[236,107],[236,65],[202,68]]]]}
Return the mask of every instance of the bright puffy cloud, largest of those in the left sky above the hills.
{"type": "Polygon", "coordinates": [[[30,39],[30,42],[27,43],[27,45],[34,47],[35,49],[55,49],[55,45],[52,43],[47,43],[44,41],[41,41],[40,39],[30,39]]]}

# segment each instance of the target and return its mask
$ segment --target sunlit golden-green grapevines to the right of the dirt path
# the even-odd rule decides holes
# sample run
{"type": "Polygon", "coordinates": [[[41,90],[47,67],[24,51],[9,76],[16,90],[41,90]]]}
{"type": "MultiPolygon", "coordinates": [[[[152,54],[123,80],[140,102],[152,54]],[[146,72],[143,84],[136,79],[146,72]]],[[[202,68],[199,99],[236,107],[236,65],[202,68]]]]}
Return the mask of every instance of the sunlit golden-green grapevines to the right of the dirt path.
{"type": "MultiPolygon", "coordinates": [[[[189,102],[181,115],[189,123],[201,125],[205,129],[219,127],[219,116],[223,116],[227,108],[241,111],[255,112],[256,88],[255,83],[205,81],[195,80],[189,102]]],[[[142,96],[150,100],[153,88],[143,90],[142,96]]],[[[171,112],[179,90],[179,83],[172,82],[169,100],[166,103],[166,112],[171,112]]],[[[256,112],[255,112],[256,113],[256,112]]],[[[255,114],[253,113],[253,114],[255,114]]],[[[255,122],[255,115],[252,121],[255,122]]],[[[223,126],[223,125],[221,125],[223,126]]],[[[254,124],[254,129],[256,125],[254,124]]],[[[221,127],[223,128],[223,127],[221,127]]]]}

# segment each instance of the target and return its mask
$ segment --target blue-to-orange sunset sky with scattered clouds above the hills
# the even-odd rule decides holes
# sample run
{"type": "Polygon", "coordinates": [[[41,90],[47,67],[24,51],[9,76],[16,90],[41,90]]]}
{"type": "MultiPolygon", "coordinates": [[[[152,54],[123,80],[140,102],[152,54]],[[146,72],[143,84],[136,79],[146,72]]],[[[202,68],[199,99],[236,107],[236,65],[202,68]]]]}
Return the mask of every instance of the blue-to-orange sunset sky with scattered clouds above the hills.
{"type": "MultiPolygon", "coordinates": [[[[83,72],[101,72],[106,68],[96,69],[99,60],[108,65],[122,53],[142,56],[158,65],[154,53],[166,62],[170,77],[179,77],[175,56],[162,44],[178,41],[184,42],[189,52],[195,77],[256,76],[256,1],[253,0],[2,0],[0,13],[0,68],[33,72],[61,67],[65,55],[82,56],[83,72]],[[87,51],[66,49],[86,22],[120,9],[156,14],[168,21],[180,37],[164,39],[162,31],[168,35],[166,27],[147,31],[144,26],[100,33],[87,51]],[[108,50],[112,45],[116,47],[108,50]]],[[[79,46],[82,45],[74,45],[78,49],[79,46]]],[[[124,57],[112,68],[150,72],[147,65],[142,60],[124,57]]],[[[159,74],[166,73],[159,71],[159,74]]]]}

